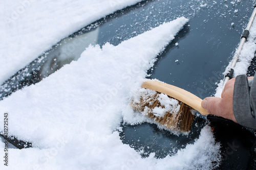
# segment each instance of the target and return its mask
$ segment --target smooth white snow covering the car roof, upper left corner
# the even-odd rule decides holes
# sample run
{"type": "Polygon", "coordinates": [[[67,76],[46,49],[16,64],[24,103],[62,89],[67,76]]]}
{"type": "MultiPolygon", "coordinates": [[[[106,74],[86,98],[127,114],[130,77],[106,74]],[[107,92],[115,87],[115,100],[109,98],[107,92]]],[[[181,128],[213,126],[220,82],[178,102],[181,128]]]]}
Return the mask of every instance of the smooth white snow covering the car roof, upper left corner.
{"type": "Polygon", "coordinates": [[[0,84],[92,22],[141,0],[0,2],[0,84]]]}

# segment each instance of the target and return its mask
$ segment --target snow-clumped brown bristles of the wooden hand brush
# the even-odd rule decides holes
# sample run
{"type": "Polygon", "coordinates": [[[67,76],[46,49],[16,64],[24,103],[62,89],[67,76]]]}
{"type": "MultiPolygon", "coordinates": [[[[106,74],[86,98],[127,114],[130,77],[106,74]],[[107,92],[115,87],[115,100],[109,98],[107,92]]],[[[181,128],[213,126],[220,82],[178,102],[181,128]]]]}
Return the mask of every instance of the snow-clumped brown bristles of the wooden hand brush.
{"type": "Polygon", "coordinates": [[[170,96],[167,98],[166,94],[152,91],[150,89],[140,91],[139,96],[135,96],[131,100],[131,106],[169,130],[189,132],[194,119],[194,115],[190,111],[192,108],[170,96]],[[165,101],[173,100],[177,103],[161,102],[160,100],[163,100],[162,95],[166,95],[165,101]],[[161,108],[164,109],[164,113],[157,114],[155,110],[161,108]]]}

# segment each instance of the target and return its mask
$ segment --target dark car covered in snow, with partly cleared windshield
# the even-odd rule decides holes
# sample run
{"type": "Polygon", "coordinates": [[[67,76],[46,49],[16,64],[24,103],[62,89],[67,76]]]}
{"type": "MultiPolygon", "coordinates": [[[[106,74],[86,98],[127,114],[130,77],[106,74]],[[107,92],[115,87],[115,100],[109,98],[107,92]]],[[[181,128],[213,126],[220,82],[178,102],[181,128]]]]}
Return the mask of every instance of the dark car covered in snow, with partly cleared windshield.
{"type": "MultiPolygon", "coordinates": [[[[197,113],[190,132],[169,131],[129,105],[145,78],[219,96],[253,3],[1,2],[0,148],[8,166],[256,168],[252,130],[197,113]]],[[[255,28],[234,76],[254,75],[255,28]]]]}

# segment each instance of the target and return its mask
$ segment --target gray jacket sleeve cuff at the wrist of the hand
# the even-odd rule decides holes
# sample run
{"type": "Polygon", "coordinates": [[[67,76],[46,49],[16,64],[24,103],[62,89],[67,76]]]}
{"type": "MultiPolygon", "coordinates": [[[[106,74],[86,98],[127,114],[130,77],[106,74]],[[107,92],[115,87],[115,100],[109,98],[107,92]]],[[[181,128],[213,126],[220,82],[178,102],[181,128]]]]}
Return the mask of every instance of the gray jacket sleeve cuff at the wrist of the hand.
{"type": "Polygon", "coordinates": [[[256,129],[256,78],[247,79],[246,75],[236,77],[233,93],[233,112],[240,125],[256,129]]]}

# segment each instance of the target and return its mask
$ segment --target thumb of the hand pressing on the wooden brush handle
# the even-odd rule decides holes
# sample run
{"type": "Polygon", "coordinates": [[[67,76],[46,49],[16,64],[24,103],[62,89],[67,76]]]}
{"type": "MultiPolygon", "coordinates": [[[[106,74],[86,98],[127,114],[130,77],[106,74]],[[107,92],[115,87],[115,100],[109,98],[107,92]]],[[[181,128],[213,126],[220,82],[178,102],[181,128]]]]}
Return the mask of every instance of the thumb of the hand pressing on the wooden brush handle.
{"type": "Polygon", "coordinates": [[[220,112],[220,101],[221,98],[208,97],[202,101],[201,106],[206,109],[210,114],[218,115],[218,113],[220,112]]]}

